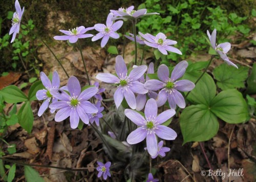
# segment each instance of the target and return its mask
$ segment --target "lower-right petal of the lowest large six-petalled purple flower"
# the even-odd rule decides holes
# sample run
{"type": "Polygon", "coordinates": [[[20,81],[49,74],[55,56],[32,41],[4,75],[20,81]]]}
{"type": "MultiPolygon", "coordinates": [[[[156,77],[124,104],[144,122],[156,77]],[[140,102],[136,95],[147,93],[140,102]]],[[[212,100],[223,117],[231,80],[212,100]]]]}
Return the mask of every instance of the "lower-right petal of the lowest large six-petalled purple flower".
{"type": "Polygon", "coordinates": [[[156,135],[164,140],[175,140],[177,133],[172,129],[164,125],[158,125],[155,129],[156,135]]]}

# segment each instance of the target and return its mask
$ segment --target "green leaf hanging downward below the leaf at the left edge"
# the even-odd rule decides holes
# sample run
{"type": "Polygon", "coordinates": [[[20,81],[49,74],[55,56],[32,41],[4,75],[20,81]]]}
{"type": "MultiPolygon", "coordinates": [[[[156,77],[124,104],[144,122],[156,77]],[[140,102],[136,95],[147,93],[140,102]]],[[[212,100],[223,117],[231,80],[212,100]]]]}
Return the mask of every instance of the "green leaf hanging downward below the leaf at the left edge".
{"type": "Polygon", "coordinates": [[[25,102],[18,111],[18,121],[20,126],[22,126],[28,133],[31,132],[33,127],[34,116],[30,102],[25,102]]]}

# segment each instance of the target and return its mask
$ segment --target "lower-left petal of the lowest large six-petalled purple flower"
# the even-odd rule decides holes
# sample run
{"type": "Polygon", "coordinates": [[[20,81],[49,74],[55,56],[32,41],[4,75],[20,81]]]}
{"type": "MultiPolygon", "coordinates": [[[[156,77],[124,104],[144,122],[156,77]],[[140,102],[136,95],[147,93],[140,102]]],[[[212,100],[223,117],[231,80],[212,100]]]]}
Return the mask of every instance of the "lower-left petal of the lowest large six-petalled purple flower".
{"type": "Polygon", "coordinates": [[[143,127],[139,127],[128,135],[126,141],[130,145],[137,144],[143,141],[146,138],[146,135],[147,131],[143,129],[143,127]]]}

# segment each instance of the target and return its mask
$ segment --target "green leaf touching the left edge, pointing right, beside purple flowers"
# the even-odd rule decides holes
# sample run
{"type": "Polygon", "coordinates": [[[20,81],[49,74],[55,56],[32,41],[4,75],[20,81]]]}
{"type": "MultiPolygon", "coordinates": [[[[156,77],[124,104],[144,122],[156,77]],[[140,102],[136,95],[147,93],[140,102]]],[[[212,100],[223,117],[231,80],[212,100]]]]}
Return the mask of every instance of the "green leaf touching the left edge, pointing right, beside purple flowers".
{"type": "Polygon", "coordinates": [[[0,93],[3,95],[5,102],[17,103],[27,101],[27,96],[15,85],[9,85],[3,88],[0,93]]]}

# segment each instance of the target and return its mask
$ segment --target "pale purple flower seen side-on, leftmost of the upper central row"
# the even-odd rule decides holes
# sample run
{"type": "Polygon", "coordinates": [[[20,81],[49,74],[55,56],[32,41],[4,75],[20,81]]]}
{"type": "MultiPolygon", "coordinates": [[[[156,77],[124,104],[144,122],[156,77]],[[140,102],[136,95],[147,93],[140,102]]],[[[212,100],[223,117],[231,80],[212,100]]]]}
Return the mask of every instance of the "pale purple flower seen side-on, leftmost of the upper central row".
{"type": "Polygon", "coordinates": [[[66,35],[54,36],[55,40],[69,40],[70,43],[75,43],[78,38],[92,37],[93,34],[84,34],[89,30],[93,30],[94,27],[85,28],[83,26],[77,27],[72,30],[59,30],[66,35]]]}

